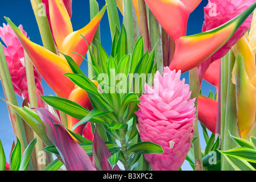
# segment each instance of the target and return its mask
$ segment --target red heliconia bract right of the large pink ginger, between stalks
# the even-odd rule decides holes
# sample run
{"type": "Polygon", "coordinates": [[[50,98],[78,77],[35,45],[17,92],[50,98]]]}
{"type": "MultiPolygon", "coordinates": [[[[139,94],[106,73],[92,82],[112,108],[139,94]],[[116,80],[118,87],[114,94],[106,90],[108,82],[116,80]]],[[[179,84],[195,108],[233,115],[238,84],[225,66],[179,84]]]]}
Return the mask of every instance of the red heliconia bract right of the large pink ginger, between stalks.
{"type": "Polygon", "coordinates": [[[207,129],[215,133],[218,102],[200,95],[198,98],[198,119],[207,129]]]}

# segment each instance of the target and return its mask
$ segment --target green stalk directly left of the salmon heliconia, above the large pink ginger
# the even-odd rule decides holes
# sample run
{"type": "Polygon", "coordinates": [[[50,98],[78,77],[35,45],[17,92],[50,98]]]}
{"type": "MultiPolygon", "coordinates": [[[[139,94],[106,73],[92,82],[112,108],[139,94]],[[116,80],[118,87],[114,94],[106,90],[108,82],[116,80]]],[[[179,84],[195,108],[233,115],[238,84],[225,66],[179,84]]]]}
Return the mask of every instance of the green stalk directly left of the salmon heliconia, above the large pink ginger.
{"type": "Polygon", "coordinates": [[[155,60],[156,66],[160,74],[163,74],[163,47],[162,47],[162,39],[160,34],[160,28],[158,21],[155,16],[152,14],[150,10],[148,10],[148,16],[150,19],[150,40],[151,46],[155,47],[155,60]]]}

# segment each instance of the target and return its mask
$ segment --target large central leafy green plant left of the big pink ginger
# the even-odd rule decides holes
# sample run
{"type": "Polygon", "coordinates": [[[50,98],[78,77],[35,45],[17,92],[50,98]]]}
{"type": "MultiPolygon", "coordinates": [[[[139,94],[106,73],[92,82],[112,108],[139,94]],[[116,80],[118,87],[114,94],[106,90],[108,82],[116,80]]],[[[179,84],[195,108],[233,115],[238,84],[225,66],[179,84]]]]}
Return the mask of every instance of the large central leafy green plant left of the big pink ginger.
{"type": "MultiPolygon", "coordinates": [[[[151,84],[157,70],[154,49],[150,53],[144,52],[142,36],[135,43],[132,55],[127,53],[127,35],[124,26],[121,31],[116,28],[110,56],[99,42],[96,46],[91,44],[89,48],[91,61],[88,63],[94,71],[95,76],[92,79],[86,77],[71,57],[64,56],[73,71],[73,73],[65,73],[65,76],[86,91],[93,110],[85,109],[65,98],[54,96],[42,98],[55,109],[80,119],[80,122],[73,126],[73,130],[79,125],[91,122],[92,131],[97,129],[112,152],[112,156],[109,158],[112,166],[118,160],[123,163],[129,161],[129,166],[133,166],[142,154],[163,153],[162,147],[158,144],[141,142],[135,126],[138,121],[134,111],[138,110],[139,97],[143,93],[144,83],[151,84]],[[124,76],[122,80],[118,75],[124,76]],[[144,77],[141,78],[140,75],[144,77]],[[94,84],[94,81],[98,82],[98,86],[94,84]],[[117,147],[115,139],[120,141],[122,147],[117,147]],[[123,145],[125,150],[123,150],[123,145]]],[[[71,130],[69,132],[77,140],[80,140],[80,145],[88,152],[89,156],[92,156],[92,141],[85,141],[83,137],[71,130]]],[[[44,150],[57,154],[57,150],[53,146],[44,150]]]]}

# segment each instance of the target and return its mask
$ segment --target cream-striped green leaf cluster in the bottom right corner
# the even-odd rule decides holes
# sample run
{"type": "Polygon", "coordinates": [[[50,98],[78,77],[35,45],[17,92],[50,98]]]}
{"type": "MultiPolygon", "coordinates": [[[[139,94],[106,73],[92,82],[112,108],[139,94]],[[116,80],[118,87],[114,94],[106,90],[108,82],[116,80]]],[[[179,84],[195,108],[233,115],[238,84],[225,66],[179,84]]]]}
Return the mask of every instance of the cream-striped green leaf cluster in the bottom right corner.
{"type": "Polygon", "coordinates": [[[230,165],[237,171],[256,171],[256,138],[251,136],[250,142],[233,137],[230,137],[238,144],[238,148],[233,148],[228,151],[221,151],[230,165]]]}

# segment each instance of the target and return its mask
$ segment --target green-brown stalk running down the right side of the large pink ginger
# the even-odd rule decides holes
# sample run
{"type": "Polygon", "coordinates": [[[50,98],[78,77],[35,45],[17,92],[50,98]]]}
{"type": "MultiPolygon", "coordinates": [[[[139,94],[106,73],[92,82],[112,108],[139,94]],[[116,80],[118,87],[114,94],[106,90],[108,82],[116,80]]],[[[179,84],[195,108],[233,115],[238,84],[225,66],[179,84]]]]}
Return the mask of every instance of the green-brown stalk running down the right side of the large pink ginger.
{"type": "MultiPolygon", "coordinates": [[[[195,107],[197,110],[197,102],[200,92],[200,80],[199,80],[199,73],[197,68],[193,68],[189,71],[189,88],[191,90],[191,98],[196,98],[195,107]]],[[[201,145],[199,139],[199,125],[198,125],[198,115],[196,114],[196,120],[194,123],[194,136],[198,138],[193,143],[193,153],[194,153],[194,160],[195,160],[195,170],[196,171],[203,171],[203,163],[202,163],[202,154],[201,154],[201,145]]]]}

